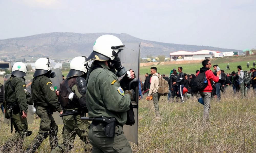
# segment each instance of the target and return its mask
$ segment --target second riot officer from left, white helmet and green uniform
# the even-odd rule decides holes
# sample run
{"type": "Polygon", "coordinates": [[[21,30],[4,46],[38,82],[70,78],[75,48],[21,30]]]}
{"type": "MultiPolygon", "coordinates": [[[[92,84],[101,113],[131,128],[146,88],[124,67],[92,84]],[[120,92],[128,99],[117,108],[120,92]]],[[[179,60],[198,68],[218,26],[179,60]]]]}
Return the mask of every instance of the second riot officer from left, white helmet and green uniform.
{"type": "Polygon", "coordinates": [[[58,111],[62,114],[60,103],[55,94],[54,87],[49,78],[54,78],[56,74],[51,71],[55,62],[49,58],[39,58],[35,62],[34,79],[31,85],[32,100],[36,108],[37,115],[41,119],[37,136],[31,142],[27,152],[35,152],[42,141],[49,135],[51,149],[58,144],[58,126],[55,123],[52,113],[58,111]]]}

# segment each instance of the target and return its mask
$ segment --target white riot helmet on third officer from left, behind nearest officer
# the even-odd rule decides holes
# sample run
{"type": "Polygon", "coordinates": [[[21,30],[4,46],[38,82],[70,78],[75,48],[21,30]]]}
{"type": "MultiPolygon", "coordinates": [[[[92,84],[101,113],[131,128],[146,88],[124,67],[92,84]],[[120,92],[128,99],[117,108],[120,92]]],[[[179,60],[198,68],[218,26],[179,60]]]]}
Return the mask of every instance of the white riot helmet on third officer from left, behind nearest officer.
{"type": "Polygon", "coordinates": [[[70,71],[68,72],[67,78],[73,76],[81,76],[87,73],[86,62],[87,58],[85,56],[78,56],[71,60],[70,71]]]}

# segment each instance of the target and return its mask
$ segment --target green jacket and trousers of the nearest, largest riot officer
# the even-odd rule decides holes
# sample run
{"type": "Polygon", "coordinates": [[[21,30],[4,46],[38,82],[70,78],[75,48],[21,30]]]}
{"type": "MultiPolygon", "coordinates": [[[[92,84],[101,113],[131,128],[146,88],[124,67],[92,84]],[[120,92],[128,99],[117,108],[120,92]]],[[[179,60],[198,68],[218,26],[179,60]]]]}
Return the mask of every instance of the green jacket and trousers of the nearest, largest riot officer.
{"type": "Polygon", "coordinates": [[[89,76],[86,103],[88,116],[116,119],[115,136],[106,137],[103,124],[95,123],[89,127],[89,140],[92,152],[132,152],[131,145],[123,133],[127,114],[131,104],[131,96],[124,94],[116,75],[103,62],[98,62],[102,68],[94,69],[89,76]]]}

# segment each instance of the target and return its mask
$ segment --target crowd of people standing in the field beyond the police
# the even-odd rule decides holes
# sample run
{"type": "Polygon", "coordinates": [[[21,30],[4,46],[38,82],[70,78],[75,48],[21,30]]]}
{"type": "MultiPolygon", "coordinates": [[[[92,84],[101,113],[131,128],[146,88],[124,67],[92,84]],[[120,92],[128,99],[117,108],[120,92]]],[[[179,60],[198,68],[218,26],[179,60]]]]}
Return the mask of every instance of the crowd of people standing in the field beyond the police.
{"type": "MultiPolygon", "coordinates": [[[[158,101],[160,95],[157,93],[159,78],[163,78],[169,84],[168,102],[178,102],[180,99],[180,102],[184,103],[184,97],[200,95],[201,98],[198,100],[204,105],[204,119],[208,119],[210,99],[216,97],[220,101],[221,92],[225,93],[227,86],[232,86],[234,93],[240,92],[242,97],[247,95],[250,88],[256,90],[255,62],[253,62],[253,68],[250,69],[250,72],[243,71],[241,66],[237,66],[237,72],[225,73],[225,70],[221,70],[217,64],[212,66],[208,59],[202,61],[202,66],[200,70],[196,70],[195,74],[183,73],[182,67],[178,67],[178,72],[176,68],[173,68],[169,77],[165,74],[160,75],[156,67],[151,67],[150,74],[145,74],[144,82],[141,80],[141,95],[147,94],[147,100],[153,99],[156,116],[159,115],[158,101]],[[214,71],[210,70],[212,67],[214,71]],[[199,75],[203,78],[201,82],[204,84],[200,90],[196,88],[200,83],[199,75]],[[187,93],[184,92],[184,89],[187,93]],[[152,98],[150,98],[151,96],[152,98]]],[[[229,69],[229,63],[227,69],[229,69]]]]}

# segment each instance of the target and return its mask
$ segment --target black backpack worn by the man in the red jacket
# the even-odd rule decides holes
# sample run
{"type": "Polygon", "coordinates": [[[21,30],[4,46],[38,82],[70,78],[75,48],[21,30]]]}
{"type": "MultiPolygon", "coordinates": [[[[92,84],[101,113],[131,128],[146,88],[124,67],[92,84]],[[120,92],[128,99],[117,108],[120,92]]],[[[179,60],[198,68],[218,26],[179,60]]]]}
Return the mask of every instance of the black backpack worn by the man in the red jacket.
{"type": "Polygon", "coordinates": [[[204,90],[207,87],[207,85],[208,81],[206,78],[206,74],[205,72],[201,72],[197,75],[191,87],[193,91],[198,92],[204,90]]]}

